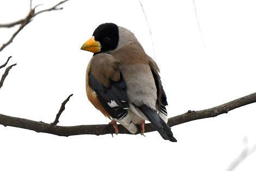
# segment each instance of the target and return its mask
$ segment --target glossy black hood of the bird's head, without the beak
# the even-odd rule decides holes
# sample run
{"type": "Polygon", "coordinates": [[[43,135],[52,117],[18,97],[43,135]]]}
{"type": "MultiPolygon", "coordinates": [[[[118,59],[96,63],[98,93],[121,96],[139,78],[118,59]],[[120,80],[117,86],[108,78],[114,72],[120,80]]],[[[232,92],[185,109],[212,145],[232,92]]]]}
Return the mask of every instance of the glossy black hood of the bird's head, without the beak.
{"type": "Polygon", "coordinates": [[[118,45],[119,34],[118,26],[114,23],[100,24],[93,33],[95,41],[99,41],[101,45],[101,52],[113,50],[118,45]]]}

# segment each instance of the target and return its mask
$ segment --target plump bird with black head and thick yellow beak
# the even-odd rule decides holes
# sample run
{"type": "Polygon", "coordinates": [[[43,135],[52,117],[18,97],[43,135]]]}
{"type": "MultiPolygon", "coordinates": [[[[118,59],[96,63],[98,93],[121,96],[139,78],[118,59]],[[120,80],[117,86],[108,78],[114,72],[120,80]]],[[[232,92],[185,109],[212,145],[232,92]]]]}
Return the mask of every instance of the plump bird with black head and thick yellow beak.
{"type": "Polygon", "coordinates": [[[144,135],[145,121],[149,121],[164,140],[177,141],[167,124],[160,69],[130,30],[102,23],[81,49],[93,53],[86,70],[87,97],[111,119],[115,134],[118,122],[132,134],[140,125],[144,135]]]}

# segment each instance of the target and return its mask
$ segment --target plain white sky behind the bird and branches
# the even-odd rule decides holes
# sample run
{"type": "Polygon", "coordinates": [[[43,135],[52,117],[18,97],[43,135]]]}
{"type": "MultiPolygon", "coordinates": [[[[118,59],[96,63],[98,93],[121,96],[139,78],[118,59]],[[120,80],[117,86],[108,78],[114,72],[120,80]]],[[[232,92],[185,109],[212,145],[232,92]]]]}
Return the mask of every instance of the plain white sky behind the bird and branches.
{"type": "MultiPolygon", "coordinates": [[[[45,9],[58,1],[33,1],[45,9]]],[[[70,1],[40,14],[0,53],[13,56],[0,90],[0,113],[51,123],[69,94],[58,125],[106,124],[86,97],[92,53],[80,47],[101,23],[133,31],[161,69],[169,116],[203,110],[255,92],[254,1],[70,1]],[[206,48],[204,47],[204,43],[206,48]]],[[[27,15],[29,1],[0,1],[0,23],[27,15]]],[[[0,44],[17,29],[0,29],[0,44]]],[[[4,72],[1,69],[0,75],[4,72]]],[[[256,104],[228,114],[173,126],[178,143],[157,132],[140,135],[59,137],[0,125],[1,170],[226,170],[256,143],[256,104]]],[[[255,153],[235,170],[255,170],[255,153]]]]}

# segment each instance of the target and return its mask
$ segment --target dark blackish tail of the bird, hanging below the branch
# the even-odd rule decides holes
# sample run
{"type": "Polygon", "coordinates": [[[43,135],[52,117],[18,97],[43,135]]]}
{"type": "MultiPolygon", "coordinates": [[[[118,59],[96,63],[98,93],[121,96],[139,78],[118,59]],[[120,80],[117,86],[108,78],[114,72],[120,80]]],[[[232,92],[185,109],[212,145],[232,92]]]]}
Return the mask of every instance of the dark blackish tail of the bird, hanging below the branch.
{"type": "Polygon", "coordinates": [[[170,130],[170,126],[163,121],[163,119],[157,114],[157,112],[154,109],[151,109],[147,105],[142,105],[138,108],[155,126],[155,129],[159,131],[159,134],[163,137],[164,140],[177,142],[177,140],[173,137],[173,132],[170,130]]]}

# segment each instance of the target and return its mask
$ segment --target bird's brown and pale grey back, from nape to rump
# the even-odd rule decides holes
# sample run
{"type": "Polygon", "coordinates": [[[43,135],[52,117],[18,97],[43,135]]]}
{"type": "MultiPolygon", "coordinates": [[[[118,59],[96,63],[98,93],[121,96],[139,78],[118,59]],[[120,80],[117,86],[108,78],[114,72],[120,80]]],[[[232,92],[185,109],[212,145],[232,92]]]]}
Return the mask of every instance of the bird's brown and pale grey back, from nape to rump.
{"type": "Polygon", "coordinates": [[[125,42],[120,41],[118,48],[111,54],[121,63],[120,71],[127,86],[128,98],[136,106],[145,104],[155,109],[157,90],[149,65],[152,59],[131,31],[119,27],[119,33],[120,36],[126,36],[120,37],[125,42]]]}

